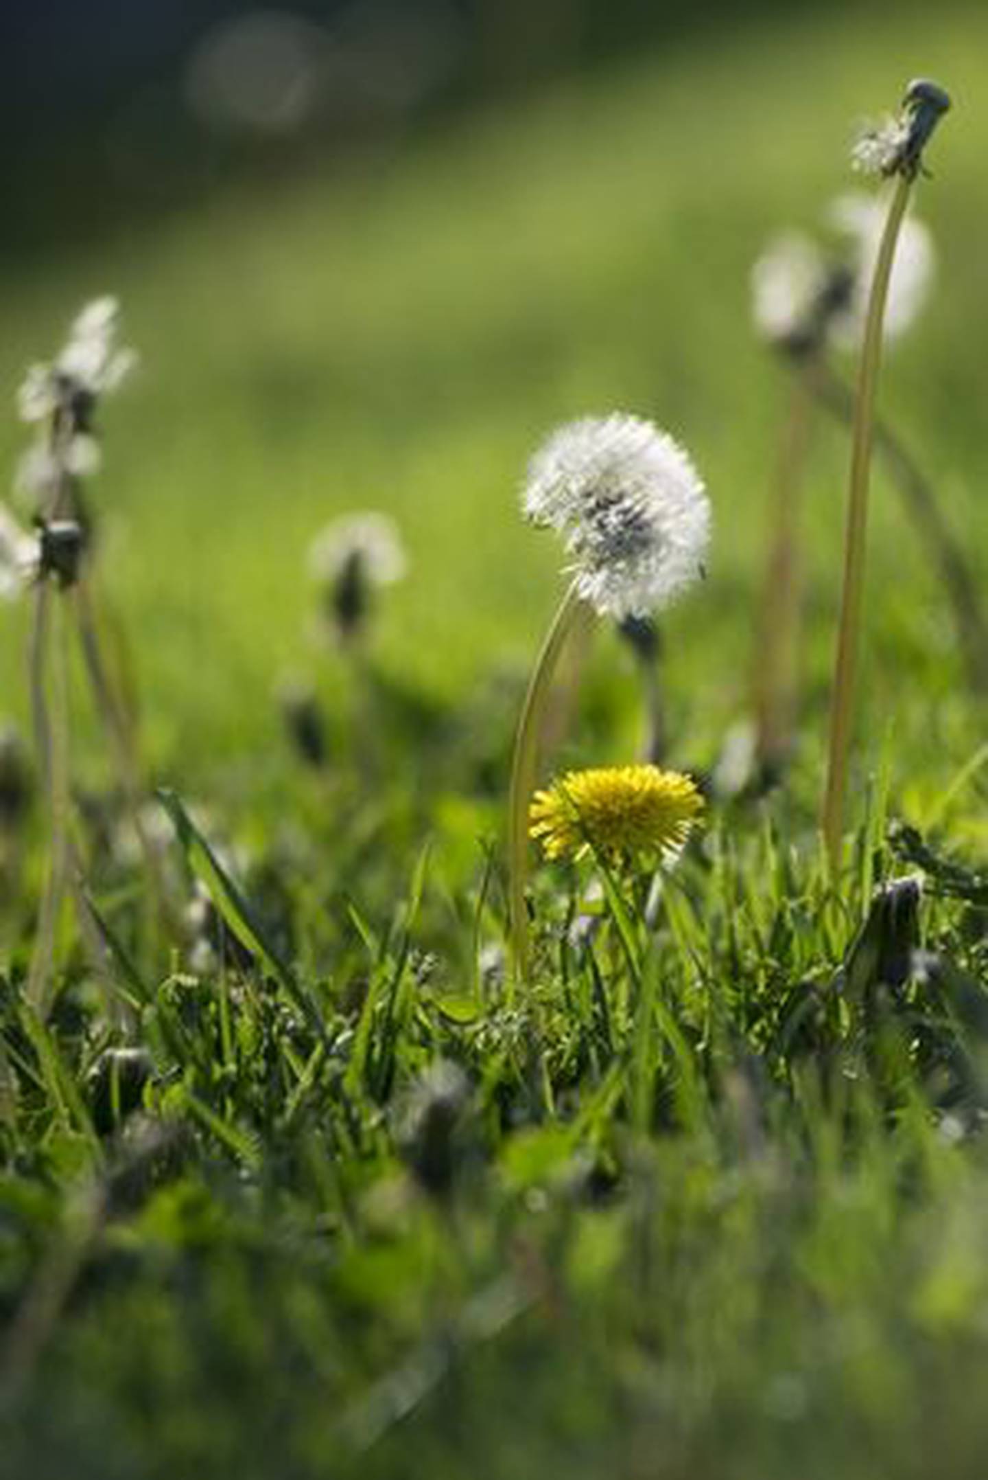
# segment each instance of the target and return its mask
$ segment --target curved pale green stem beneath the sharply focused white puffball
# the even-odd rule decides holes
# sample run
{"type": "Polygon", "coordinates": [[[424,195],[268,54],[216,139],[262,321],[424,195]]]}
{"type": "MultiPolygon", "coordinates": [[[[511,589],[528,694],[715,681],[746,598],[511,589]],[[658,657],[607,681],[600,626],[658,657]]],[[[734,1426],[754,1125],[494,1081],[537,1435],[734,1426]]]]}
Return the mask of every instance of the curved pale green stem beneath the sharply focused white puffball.
{"type": "MultiPolygon", "coordinates": [[[[525,903],[525,884],[528,881],[528,807],[535,789],[546,703],[566,639],[578,622],[587,619],[589,614],[590,608],[580,598],[574,582],[552,620],[541,653],[535,662],[518,722],[518,734],[515,736],[515,756],[512,761],[512,783],[507,804],[507,867],[512,968],[513,980],[521,983],[528,983],[531,969],[528,906],[525,903]]],[[[509,981],[512,981],[510,975],[509,981]]]]}

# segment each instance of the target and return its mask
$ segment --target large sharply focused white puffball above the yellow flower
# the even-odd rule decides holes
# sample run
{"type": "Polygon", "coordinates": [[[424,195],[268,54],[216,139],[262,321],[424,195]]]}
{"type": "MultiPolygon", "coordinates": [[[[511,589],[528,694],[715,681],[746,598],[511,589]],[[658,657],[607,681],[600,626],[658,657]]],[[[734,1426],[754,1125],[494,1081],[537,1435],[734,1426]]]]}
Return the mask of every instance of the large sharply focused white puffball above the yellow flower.
{"type": "Polygon", "coordinates": [[[528,465],[522,508],[564,536],[577,591],[617,620],[667,605],[703,574],[710,503],[683,448],[637,416],[558,428],[528,465]]]}

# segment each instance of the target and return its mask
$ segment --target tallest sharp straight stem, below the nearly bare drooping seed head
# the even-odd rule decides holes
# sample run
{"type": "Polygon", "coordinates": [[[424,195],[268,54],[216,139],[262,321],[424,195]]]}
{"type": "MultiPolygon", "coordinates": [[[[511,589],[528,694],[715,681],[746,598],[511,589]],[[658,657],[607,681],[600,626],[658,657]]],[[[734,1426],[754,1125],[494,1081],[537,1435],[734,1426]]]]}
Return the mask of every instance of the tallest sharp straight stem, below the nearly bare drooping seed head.
{"type": "Polygon", "coordinates": [[[879,259],[868,299],[858,401],[855,407],[853,447],[850,454],[850,488],[847,493],[847,522],[845,527],[845,579],[840,604],[840,628],[834,663],[834,687],[830,712],[830,753],[827,761],[827,790],[824,793],[822,830],[831,869],[840,863],[845,792],[847,787],[847,749],[853,719],[853,693],[858,667],[861,605],[864,595],[864,558],[868,528],[868,474],[871,463],[871,429],[874,395],[882,360],[882,324],[892,277],[892,260],[902,218],[910,200],[913,181],[899,175],[884,223],[879,259]]]}

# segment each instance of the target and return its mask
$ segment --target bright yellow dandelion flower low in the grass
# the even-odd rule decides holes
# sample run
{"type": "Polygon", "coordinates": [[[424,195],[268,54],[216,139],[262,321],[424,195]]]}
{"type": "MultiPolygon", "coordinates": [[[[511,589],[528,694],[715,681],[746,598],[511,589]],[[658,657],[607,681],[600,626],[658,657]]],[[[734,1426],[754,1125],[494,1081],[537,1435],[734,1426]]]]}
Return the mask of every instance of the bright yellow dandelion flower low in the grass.
{"type": "Polygon", "coordinates": [[[657,765],[568,771],[535,792],[529,835],[547,858],[600,854],[624,863],[636,854],[673,858],[686,842],[703,796],[691,777],[657,765]]]}

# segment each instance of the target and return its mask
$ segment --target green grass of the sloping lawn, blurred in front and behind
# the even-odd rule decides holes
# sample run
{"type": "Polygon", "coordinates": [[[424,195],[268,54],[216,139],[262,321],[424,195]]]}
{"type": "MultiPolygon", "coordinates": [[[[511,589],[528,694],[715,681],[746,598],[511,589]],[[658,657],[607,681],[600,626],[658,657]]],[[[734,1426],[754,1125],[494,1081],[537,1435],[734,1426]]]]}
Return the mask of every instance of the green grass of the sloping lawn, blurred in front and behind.
{"type": "MultiPolygon", "coordinates": [[[[750,263],[819,221],[853,120],[917,73],[957,101],[918,188],[941,281],[880,400],[985,574],[987,44],[961,7],[725,33],[86,258],[52,243],[0,283],[10,391],[81,299],[123,299],[143,369],[105,414],[104,583],[155,776],[243,889],[172,841],[176,901],[198,872],[226,925],[206,962],[188,922],[142,937],[81,707],[111,986],[67,928],[43,1026],[21,993],[37,810],[0,838],[4,1480],[981,1473],[984,709],[879,472],[855,835],[828,884],[839,429],[813,438],[785,787],[711,807],[652,925],[640,901],[609,915],[589,866],[541,870],[534,1000],[509,1011],[478,946],[504,929],[510,737],[561,592],[518,517],[527,456],[611,408],[695,454],[713,558],[664,672],[673,759],[710,765],[747,712],[787,400],[750,263]],[[312,638],[305,549],[362,508],[399,519],[411,571],[359,687],[312,638]],[[281,733],[287,672],[319,685],[325,776],[281,733]],[[918,912],[871,907],[911,869],[918,912]],[[149,1055],[133,1098],[121,1045],[149,1055]]],[[[0,429],[9,460],[21,441],[0,429]]],[[[0,620],[24,719],[27,611],[0,620]]],[[[600,632],[566,758],[629,758],[637,718],[600,632]]]]}

